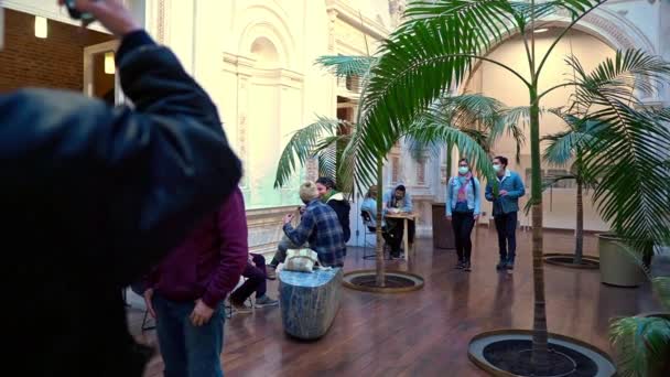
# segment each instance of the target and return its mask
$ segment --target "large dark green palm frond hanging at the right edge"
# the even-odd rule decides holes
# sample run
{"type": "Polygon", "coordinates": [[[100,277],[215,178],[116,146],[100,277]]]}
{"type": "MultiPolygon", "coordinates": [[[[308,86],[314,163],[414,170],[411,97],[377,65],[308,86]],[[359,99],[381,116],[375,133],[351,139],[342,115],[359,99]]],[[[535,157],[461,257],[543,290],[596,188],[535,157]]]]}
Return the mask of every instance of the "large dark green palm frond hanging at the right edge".
{"type": "Polygon", "coordinates": [[[660,151],[670,148],[670,132],[648,110],[636,110],[616,98],[593,101],[602,108],[588,120],[607,125],[585,148],[583,168],[599,184],[594,201],[603,219],[637,250],[670,240],[670,176],[660,151]]]}

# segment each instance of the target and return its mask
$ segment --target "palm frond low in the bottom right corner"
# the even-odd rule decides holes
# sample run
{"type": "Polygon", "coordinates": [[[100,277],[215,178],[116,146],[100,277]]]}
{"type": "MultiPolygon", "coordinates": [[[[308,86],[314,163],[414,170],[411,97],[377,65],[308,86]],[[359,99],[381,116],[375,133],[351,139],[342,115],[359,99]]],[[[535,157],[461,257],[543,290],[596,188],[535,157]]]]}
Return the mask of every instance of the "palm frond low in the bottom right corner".
{"type": "Polygon", "coordinates": [[[618,356],[618,375],[660,376],[657,373],[670,354],[669,320],[653,316],[615,320],[609,326],[609,337],[618,356]]]}

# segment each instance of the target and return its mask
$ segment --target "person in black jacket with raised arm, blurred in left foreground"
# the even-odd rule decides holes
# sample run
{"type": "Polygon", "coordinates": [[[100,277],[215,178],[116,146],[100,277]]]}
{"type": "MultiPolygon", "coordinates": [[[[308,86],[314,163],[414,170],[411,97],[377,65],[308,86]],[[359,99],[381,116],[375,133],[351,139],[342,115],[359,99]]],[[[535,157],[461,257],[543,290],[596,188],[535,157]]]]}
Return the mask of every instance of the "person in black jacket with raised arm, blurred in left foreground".
{"type": "MultiPolygon", "coordinates": [[[[62,3],[62,1],[61,1],[62,3]]],[[[77,0],[121,39],[134,104],[0,95],[4,367],[21,376],[141,376],[151,352],[121,297],[238,184],[207,94],[121,0],[77,0]]]]}

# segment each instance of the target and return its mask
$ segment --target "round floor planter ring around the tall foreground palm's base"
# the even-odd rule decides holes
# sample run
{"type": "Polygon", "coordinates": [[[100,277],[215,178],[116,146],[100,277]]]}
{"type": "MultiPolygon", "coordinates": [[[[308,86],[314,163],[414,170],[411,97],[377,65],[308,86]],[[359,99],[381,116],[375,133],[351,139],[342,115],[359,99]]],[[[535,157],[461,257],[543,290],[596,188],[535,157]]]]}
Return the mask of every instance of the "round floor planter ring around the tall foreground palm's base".
{"type": "MultiPolygon", "coordinates": [[[[515,373],[515,369],[523,369],[529,365],[525,359],[530,357],[531,345],[532,331],[491,331],[473,337],[467,356],[491,376],[541,377],[532,371],[515,373]]],[[[549,348],[552,351],[552,359],[559,360],[564,368],[559,368],[558,363],[554,363],[554,370],[548,376],[572,376],[579,371],[579,376],[612,377],[616,373],[614,363],[605,352],[582,341],[550,333],[549,348]]]]}

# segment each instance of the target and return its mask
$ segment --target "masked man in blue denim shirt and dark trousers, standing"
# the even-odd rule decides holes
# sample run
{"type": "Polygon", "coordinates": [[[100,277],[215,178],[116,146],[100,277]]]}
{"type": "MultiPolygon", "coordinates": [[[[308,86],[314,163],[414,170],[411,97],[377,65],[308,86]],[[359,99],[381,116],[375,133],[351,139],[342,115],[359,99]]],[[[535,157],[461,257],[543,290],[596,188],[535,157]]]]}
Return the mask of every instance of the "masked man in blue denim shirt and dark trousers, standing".
{"type": "Polygon", "coordinates": [[[498,194],[494,194],[490,183],[486,185],[486,200],[494,204],[494,218],[498,231],[498,248],[500,261],[497,270],[515,268],[517,255],[517,213],[519,212],[519,197],[526,195],[521,176],[507,169],[507,158],[496,157],[493,160],[494,170],[498,180],[498,194]]]}

